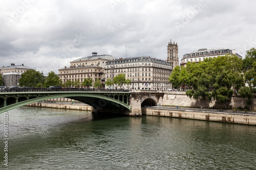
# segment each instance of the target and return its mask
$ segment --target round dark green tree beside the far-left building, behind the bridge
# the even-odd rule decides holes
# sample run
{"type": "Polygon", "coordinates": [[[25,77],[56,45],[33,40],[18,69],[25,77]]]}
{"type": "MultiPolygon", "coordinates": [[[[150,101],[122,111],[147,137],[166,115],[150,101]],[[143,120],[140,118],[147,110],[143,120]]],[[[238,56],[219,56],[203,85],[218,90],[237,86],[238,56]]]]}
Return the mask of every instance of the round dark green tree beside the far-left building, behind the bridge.
{"type": "Polygon", "coordinates": [[[42,76],[40,72],[34,69],[27,70],[22,74],[22,78],[19,79],[19,85],[27,87],[36,87],[41,82],[42,76]]]}

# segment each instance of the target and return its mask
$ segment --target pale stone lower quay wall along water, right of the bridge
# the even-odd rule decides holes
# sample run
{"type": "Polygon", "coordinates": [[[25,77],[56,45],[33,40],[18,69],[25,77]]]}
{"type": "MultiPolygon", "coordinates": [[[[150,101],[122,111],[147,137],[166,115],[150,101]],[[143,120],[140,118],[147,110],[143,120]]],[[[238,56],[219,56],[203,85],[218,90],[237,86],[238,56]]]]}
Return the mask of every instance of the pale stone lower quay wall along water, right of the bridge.
{"type": "Polygon", "coordinates": [[[181,110],[167,108],[141,108],[142,115],[167,116],[177,118],[188,118],[207,120],[213,122],[224,122],[244,125],[256,125],[256,114],[226,113],[217,110],[181,110]]]}

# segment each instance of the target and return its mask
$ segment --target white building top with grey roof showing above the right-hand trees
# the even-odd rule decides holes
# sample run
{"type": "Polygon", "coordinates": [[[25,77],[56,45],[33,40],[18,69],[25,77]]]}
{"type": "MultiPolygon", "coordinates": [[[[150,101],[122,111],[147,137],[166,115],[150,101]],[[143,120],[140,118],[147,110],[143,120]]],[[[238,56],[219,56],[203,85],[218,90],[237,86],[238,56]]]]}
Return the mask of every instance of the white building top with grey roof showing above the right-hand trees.
{"type": "Polygon", "coordinates": [[[225,56],[226,54],[233,54],[238,56],[239,58],[242,58],[239,54],[236,53],[236,50],[229,50],[225,48],[221,49],[214,49],[214,50],[207,50],[207,48],[201,48],[196,52],[192,52],[189,54],[183,55],[181,59],[180,66],[186,66],[186,63],[189,61],[190,63],[192,62],[200,62],[204,61],[206,58],[215,58],[219,56],[225,56]]]}

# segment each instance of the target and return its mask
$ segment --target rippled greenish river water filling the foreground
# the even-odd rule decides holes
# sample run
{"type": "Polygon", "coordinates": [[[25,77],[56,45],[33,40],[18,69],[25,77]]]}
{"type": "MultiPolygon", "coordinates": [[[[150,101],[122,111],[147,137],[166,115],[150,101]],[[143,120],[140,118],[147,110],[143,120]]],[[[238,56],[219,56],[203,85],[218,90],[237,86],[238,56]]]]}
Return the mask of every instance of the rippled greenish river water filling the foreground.
{"type": "Polygon", "coordinates": [[[8,169],[256,169],[255,126],[33,107],[8,117],[8,169]]]}

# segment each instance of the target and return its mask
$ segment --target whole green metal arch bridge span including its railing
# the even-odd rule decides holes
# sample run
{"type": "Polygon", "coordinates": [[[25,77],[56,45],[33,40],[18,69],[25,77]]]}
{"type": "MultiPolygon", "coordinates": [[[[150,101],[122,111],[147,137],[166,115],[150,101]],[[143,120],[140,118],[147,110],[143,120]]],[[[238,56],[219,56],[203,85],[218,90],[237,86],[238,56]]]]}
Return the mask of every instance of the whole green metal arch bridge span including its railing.
{"type": "Polygon", "coordinates": [[[69,98],[86,103],[94,111],[118,112],[131,111],[129,90],[116,89],[83,89],[83,88],[16,88],[0,91],[0,113],[54,98],[69,98]]]}

